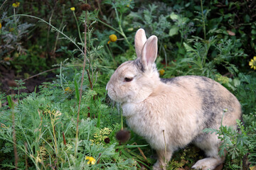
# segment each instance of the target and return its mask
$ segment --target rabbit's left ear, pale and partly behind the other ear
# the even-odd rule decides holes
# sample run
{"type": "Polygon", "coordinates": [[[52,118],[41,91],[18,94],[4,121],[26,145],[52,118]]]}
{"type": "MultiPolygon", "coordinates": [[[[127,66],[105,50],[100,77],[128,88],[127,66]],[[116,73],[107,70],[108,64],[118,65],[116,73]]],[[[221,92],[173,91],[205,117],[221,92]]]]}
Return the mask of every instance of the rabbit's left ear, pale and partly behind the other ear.
{"type": "Polygon", "coordinates": [[[134,44],[137,57],[142,57],[142,48],[146,42],[146,34],[144,29],[140,28],[135,34],[134,44]]]}

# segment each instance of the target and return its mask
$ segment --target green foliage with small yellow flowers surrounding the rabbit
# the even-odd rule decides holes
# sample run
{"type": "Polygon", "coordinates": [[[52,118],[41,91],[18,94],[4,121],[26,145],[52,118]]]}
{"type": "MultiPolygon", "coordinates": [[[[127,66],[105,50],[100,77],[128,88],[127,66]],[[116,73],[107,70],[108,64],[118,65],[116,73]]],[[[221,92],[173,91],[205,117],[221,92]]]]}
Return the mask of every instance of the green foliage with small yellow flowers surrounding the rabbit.
{"type": "MultiPolygon", "coordinates": [[[[223,169],[255,166],[256,74],[249,66],[256,53],[255,2],[97,2],[20,1],[12,6],[4,1],[0,6],[0,69],[14,69],[23,79],[58,68],[39,93],[21,93],[21,80],[12,88],[16,95],[0,93],[0,169],[15,168],[14,154],[20,169],[149,169],[154,164],[154,151],[134,132],[128,142],[117,141],[122,111],[105,90],[114,69],[136,58],[138,28],[159,39],[161,77],[202,75],[237,96],[244,120],[237,122],[240,130],[221,126],[205,132],[223,141],[220,154],[228,152],[223,169]]],[[[168,169],[187,169],[202,155],[188,146],[174,154],[168,169]]]]}

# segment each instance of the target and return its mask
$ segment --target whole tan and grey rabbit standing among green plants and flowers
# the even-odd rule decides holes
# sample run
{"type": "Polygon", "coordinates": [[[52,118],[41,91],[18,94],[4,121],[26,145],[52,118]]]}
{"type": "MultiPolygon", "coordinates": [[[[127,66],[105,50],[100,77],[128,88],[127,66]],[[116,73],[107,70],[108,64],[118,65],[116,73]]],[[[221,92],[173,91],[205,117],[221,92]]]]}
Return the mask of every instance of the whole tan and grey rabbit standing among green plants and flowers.
{"type": "Polygon", "coordinates": [[[221,142],[215,133],[202,130],[218,129],[221,122],[237,128],[236,120],[242,115],[238,99],[207,77],[161,79],[155,64],[157,37],[146,39],[142,28],[137,30],[134,45],[137,59],[122,63],[106,90],[121,104],[129,128],[156,149],[158,159],[153,169],[166,169],[172,154],[190,143],[207,156],[192,168],[215,169],[225,160],[218,155],[221,142]]]}

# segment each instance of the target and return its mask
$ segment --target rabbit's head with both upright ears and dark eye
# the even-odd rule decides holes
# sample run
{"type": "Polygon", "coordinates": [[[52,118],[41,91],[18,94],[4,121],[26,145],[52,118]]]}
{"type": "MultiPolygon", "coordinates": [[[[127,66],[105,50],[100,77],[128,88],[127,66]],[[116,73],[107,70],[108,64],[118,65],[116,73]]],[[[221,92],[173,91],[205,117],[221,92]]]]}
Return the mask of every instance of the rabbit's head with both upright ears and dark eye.
{"type": "Polygon", "coordinates": [[[143,29],[135,35],[137,60],[122,63],[107,83],[107,94],[119,103],[144,101],[160,82],[156,69],[157,38],[152,35],[146,40],[143,29]]]}

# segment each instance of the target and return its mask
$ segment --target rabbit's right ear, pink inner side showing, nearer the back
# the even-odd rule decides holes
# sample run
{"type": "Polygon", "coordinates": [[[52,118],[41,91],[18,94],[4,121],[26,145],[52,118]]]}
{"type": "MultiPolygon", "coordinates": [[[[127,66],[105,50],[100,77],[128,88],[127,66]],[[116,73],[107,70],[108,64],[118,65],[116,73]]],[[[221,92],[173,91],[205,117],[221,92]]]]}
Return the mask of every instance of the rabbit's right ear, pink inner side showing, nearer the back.
{"type": "Polygon", "coordinates": [[[150,67],[154,63],[157,56],[157,37],[152,35],[146,40],[142,48],[142,63],[146,67],[150,67]]]}

